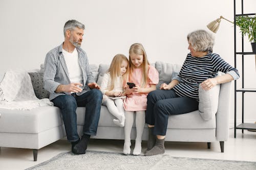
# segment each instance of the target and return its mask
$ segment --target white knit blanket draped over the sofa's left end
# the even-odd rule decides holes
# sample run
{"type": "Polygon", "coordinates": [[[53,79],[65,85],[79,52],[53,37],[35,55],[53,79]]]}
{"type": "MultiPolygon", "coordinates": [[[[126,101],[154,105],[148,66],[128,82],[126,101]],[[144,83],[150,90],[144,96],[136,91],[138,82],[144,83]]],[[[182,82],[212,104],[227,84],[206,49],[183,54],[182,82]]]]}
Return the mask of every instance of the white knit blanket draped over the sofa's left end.
{"type": "Polygon", "coordinates": [[[39,106],[53,106],[53,103],[36,98],[26,71],[8,70],[0,83],[0,108],[30,110],[39,106]]]}

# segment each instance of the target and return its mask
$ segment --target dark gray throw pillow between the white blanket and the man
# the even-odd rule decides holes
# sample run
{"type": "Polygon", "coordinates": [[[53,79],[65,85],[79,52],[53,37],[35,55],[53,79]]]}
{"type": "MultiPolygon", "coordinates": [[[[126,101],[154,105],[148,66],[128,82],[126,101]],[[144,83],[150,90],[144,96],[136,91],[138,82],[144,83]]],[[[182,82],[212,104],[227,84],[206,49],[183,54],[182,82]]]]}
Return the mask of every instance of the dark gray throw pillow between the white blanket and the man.
{"type": "Polygon", "coordinates": [[[28,74],[31,78],[36,97],[38,99],[49,99],[50,92],[44,88],[44,74],[42,72],[29,72],[28,74]]]}

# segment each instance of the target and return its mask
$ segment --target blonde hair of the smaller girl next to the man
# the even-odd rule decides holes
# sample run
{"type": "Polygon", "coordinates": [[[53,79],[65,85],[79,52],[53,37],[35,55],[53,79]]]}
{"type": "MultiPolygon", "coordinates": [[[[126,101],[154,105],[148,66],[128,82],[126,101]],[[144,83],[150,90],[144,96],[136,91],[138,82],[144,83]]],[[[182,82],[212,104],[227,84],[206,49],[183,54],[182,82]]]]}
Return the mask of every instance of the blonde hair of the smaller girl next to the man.
{"type": "Polygon", "coordinates": [[[120,68],[121,68],[123,61],[126,61],[128,64],[127,64],[127,70],[126,70],[125,74],[121,77],[121,80],[123,82],[123,80],[126,79],[127,72],[129,70],[129,60],[127,59],[127,57],[125,55],[117,54],[113,58],[113,60],[110,64],[110,68],[107,71],[107,72],[109,72],[110,78],[111,78],[111,86],[110,86],[110,89],[108,89],[108,90],[114,89],[114,83],[116,82],[117,78],[121,76],[120,68]]]}

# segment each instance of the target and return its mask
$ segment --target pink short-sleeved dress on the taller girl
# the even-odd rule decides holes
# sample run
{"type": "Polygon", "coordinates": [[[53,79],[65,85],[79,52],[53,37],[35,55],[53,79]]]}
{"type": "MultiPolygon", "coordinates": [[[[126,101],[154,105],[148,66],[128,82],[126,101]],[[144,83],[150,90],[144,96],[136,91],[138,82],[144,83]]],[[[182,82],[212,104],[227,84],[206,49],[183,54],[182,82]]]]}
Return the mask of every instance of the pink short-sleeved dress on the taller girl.
{"type": "MultiPolygon", "coordinates": [[[[136,85],[140,86],[142,79],[142,68],[135,68],[132,72],[132,77],[136,85]]],[[[158,71],[153,66],[148,66],[148,84],[146,87],[150,87],[150,84],[158,84],[159,76],[158,71]]],[[[146,96],[144,93],[132,93],[127,95],[127,98],[123,101],[123,107],[126,111],[140,111],[146,110],[146,96]]]]}

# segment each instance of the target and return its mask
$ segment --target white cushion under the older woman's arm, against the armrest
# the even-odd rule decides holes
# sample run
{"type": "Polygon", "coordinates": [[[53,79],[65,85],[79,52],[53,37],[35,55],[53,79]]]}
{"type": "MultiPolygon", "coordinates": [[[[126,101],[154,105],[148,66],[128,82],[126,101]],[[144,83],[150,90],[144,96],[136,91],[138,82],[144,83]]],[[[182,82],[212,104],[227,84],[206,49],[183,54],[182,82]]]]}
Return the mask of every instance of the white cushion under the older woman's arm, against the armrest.
{"type": "Polygon", "coordinates": [[[209,120],[216,114],[219,103],[220,84],[205,91],[199,86],[199,113],[204,120],[209,120]]]}

